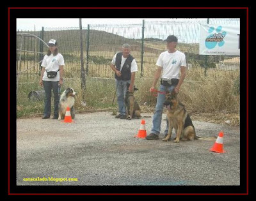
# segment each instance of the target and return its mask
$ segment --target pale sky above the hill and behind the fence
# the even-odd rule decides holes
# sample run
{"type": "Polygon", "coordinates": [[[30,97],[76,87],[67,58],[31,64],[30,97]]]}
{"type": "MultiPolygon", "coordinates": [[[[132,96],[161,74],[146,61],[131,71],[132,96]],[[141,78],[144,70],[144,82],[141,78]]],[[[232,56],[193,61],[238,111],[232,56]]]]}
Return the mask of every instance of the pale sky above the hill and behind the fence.
{"type": "MultiPolygon", "coordinates": [[[[200,23],[206,24],[207,19],[170,19],[170,18],[116,18],[116,19],[82,19],[83,29],[87,29],[90,24],[91,29],[97,29],[98,31],[106,31],[108,33],[114,33],[125,38],[141,38],[142,21],[145,20],[145,38],[159,38],[164,40],[166,36],[174,34],[179,38],[182,43],[199,43],[200,39],[200,23]],[[154,23],[152,21],[155,21],[154,23]],[[157,22],[156,22],[157,21],[157,22]],[[160,22],[160,23],[159,23],[160,22]],[[163,22],[163,23],[162,23],[163,22]],[[182,23],[180,23],[182,22],[182,23]],[[93,26],[96,25],[96,26],[93,26]],[[99,26],[97,26],[99,25],[99,26]],[[103,25],[103,26],[102,26],[103,25]],[[110,26],[105,26],[110,25],[110,26]],[[111,26],[113,25],[113,26],[111,26]],[[116,26],[115,26],[116,25],[116,26]],[[123,26],[128,25],[128,26],[123,26]],[[129,26],[131,25],[131,26],[129,26]]],[[[236,19],[211,19],[212,23],[230,23],[236,19]],[[216,21],[217,20],[217,21],[216,21]],[[224,20],[224,21],[222,21],[224,20]]],[[[232,23],[239,23],[234,21],[232,23]]],[[[210,23],[211,24],[211,23],[210,23]]],[[[78,18],[62,18],[62,19],[50,19],[50,18],[29,18],[29,19],[17,19],[17,31],[41,31],[44,27],[45,31],[61,29],[77,28],[79,29],[78,18]]]]}

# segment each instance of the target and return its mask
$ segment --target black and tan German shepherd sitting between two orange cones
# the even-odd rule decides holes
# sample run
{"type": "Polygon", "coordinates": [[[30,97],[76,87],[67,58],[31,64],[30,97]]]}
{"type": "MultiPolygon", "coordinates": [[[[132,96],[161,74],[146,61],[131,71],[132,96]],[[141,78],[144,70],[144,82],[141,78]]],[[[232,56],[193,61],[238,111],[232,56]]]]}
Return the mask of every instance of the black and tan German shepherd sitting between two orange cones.
{"type": "Polygon", "coordinates": [[[176,131],[174,142],[198,139],[195,132],[195,127],[189,117],[185,107],[177,99],[177,93],[166,93],[164,106],[167,107],[167,119],[169,122],[168,135],[163,141],[168,141],[172,135],[172,129],[176,131]]]}

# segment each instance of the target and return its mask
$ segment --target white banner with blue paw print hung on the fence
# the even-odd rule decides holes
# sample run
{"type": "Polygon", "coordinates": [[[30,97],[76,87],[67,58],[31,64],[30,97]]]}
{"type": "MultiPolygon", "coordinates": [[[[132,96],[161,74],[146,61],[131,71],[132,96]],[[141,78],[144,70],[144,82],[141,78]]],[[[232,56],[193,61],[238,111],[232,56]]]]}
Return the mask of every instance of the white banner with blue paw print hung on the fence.
{"type": "Polygon", "coordinates": [[[240,25],[201,24],[199,54],[240,56],[240,25]]]}

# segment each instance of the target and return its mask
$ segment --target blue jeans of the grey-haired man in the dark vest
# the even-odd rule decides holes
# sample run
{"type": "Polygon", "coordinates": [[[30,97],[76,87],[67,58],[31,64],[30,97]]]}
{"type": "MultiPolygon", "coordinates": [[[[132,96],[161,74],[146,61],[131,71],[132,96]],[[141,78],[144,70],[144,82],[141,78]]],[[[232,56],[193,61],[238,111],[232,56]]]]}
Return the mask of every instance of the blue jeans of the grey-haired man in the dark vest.
{"type": "Polygon", "coordinates": [[[128,90],[126,84],[131,83],[131,80],[116,80],[116,93],[119,114],[125,115],[126,108],[124,103],[125,93],[128,90]]]}

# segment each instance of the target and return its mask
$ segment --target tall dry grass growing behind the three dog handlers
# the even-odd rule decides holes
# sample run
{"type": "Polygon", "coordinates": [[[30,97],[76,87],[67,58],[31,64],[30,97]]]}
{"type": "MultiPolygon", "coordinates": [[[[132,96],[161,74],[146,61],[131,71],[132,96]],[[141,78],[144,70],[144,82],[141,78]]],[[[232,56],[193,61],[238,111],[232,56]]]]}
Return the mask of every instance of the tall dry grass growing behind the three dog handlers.
{"type": "MultiPolygon", "coordinates": [[[[102,68],[106,75],[111,73],[112,77],[113,72],[108,65],[102,65],[97,68],[102,68]]],[[[148,66],[148,68],[152,68],[153,76],[156,66],[152,65],[148,66]]],[[[212,123],[225,123],[225,121],[229,120],[230,125],[238,126],[240,121],[240,100],[239,94],[234,92],[234,74],[229,76],[227,73],[224,77],[223,71],[214,71],[214,73],[216,76],[207,73],[207,77],[205,77],[202,68],[191,68],[180,88],[179,99],[186,105],[193,120],[212,123]]],[[[237,76],[239,76],[238,73],[237,76]]],[[[113,78],[86,77],[86,88],[82,90],[78,70],[74,70],[72,73],[65,71],[65,77],[73,77],[65,78],[62,91],[67,87],[73,87],[77,91],[78,96],[75,105],[77,112],[110,110],[113,114],[116,114],[116,96],[113,103],[116,85],[113,78]],[[82,104],[83,101],[86,102],[86,106],[82,104]]],[[[31,79],[31,83],[19,84],[17,117],[42,114],[44,109],[43,100],[38,102],[28,101],[28,93],[30,91],[42,89],[38,86],[38,78],[31,79]]],[[[153,113],[156,106],[156,97],[149,93],[152,80],[152,78],[140,78],[140,73],[136,73],[135,86],[138,87],[139,91],[136,91],[134,96],[136,96],[143,113],[153,113]]]]}

